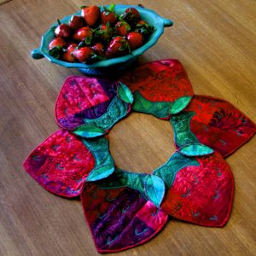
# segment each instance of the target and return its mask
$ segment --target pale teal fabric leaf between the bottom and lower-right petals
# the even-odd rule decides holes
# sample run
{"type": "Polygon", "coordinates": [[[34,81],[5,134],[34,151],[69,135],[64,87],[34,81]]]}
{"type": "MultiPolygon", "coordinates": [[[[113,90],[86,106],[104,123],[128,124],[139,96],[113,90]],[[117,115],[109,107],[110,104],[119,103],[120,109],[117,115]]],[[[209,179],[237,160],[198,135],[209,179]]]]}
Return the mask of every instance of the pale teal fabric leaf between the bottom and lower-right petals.
{"type": "Polygon", "coordinates": [[[145,181],[145,191],[150,201],[154,203],[156,207],[160,207],[160,203],[165,195],[165,183],[160,177],[155,175],[148,175],[145,181]]]}

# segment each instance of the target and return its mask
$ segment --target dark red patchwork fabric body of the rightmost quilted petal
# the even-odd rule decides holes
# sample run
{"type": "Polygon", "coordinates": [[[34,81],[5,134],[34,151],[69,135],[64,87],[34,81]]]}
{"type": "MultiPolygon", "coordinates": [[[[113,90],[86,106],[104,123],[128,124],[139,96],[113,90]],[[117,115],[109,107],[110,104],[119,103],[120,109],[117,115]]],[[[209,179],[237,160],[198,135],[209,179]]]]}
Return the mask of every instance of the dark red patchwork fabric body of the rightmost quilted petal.
{"type": "Polygon", "coordinates": [[[224,157],[247,143],[256,131],[255,124],[246,115],[230,102],[215,97],[194,96],[186,111],[196,113],[190,130],[199,142],[224,157]]]}

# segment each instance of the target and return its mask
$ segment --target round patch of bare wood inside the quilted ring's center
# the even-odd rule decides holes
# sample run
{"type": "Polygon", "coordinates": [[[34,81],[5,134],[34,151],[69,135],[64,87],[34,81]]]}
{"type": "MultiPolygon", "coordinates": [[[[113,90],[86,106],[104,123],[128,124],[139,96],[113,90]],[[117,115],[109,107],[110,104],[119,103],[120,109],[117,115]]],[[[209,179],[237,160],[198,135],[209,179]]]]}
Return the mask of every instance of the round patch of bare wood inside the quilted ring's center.
{"type": "Polygon", "coordinates": [[[172,125],[144,113],[131,113],[109,133],[110,152],[119,169],[152,173],[175,152],[172,125]]]}

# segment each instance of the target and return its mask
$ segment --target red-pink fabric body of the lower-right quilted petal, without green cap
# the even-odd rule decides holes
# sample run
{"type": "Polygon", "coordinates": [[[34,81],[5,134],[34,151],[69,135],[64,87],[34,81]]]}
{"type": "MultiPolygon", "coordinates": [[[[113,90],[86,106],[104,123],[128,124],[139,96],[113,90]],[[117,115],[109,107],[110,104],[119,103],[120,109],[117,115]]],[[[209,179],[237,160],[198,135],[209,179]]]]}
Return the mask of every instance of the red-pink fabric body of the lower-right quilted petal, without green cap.
{"type": "Polygon", "coordinates": [[[177,172],[161,209],[194,224],[223,226],[230,217],[234,194],[230,166],[218,153],[196,160],[200,166],[177,172]]]}

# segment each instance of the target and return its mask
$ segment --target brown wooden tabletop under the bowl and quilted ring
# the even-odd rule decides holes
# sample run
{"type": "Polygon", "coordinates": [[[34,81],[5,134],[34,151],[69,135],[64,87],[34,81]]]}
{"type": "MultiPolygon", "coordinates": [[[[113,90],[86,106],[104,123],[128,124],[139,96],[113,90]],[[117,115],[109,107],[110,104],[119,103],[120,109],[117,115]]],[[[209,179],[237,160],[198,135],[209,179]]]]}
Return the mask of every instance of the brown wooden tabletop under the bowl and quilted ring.
{"type": "MultiPolygon", "coordinates": [[[[86,3],[12,0],[0,5],[0,254],[97,255],[79,200],[51,195],[22,169],[26,155],[57,130],[55,99],[68,75],[30,51],[56,18],[86,3]]],[[[122,1],[135,3],[136,1],[122,1]]],[[[224,98],[256,121],[255,0],[140,1],[174,20],[141,61],[177,58],[195,93],[224,98]]],[[[174,152],[171,125],[132,113],[110,132],[117,165],[151,172],[174,152]]],[[[173,219],[153,240],[119,255],[255,255],[256,139],[227,161],[236,182],[229,223],[205,228],[173,219]]]]}

